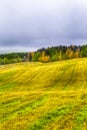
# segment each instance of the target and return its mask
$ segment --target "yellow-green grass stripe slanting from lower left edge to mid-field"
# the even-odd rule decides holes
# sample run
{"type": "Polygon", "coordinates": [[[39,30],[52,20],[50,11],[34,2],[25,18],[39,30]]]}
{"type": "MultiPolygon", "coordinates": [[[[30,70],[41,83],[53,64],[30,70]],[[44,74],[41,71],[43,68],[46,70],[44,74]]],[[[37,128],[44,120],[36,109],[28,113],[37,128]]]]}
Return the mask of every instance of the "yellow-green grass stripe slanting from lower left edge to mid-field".
{"type": "Polygon", "coordinates": [[[13,111],[11,111],[7,114],[3,114],[3,116],[0,117],[0,121],[4,122],[4,121],[8,120],[8,118],[12,118],[14,116],[17,116],[18,114],[23,115],[26,112],[30,112],[32,109],[36,109],[40,105],[44,104],[46,102],[47,98],[48,98],[47,95],[41,96],[31,103],[27,103],[17,109],[14,109],[13,111]]]}

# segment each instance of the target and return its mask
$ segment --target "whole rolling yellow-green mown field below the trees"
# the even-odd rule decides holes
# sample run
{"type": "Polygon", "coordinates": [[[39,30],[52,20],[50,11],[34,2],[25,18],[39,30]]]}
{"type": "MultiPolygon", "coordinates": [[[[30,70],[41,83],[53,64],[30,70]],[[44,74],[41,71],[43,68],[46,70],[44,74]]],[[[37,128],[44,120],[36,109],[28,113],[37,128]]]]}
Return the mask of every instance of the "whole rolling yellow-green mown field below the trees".
{"type": "Polygon", "coordinates": [[[87,130],[87,59],[0,66],[0,130],[87,130]]]}

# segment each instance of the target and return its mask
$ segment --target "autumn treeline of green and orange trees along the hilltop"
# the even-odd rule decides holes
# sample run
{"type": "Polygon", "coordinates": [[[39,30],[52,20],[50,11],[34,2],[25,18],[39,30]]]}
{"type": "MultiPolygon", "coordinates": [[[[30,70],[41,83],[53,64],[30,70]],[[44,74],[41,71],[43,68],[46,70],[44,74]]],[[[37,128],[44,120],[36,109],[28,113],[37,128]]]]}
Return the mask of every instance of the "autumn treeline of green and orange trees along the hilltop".
{"type": "Polygon", "coordinates": [[[87,57],[87,45],[55,46],[35,52],[0,54],[0,65],[18,62],[54,62],[72,58],[87,57]]]}

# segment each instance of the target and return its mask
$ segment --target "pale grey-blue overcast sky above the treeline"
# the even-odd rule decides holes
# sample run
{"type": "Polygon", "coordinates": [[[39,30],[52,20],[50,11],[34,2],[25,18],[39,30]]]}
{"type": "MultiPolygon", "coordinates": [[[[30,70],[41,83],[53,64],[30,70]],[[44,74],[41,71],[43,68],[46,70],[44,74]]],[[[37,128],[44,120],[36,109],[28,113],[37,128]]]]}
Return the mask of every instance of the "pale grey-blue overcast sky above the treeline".
{"type": "Polygon", "coordinates": [[[87,0],[0,0],[0,51],[87,43],[87,0]]]}

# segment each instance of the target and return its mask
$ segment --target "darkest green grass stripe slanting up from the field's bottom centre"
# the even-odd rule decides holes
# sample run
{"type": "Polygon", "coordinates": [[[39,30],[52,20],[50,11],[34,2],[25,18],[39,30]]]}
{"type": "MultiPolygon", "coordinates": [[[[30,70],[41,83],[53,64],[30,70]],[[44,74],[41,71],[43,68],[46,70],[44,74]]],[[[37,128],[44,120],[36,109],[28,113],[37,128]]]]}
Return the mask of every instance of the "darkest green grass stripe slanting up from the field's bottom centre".
{"type": "Polygon", "coordinates": [[[46,126],[48,123],[54,121],[56,118],[61,118],[65,114],[67,114],[71,109],[73,108],[73,105],[66,105],[62,106],[58,109],[54,109],[45,115],[43,115],[39,120],[34,122],[32,126],[29,126],[27,130],[41,130],[46,126]]]}

